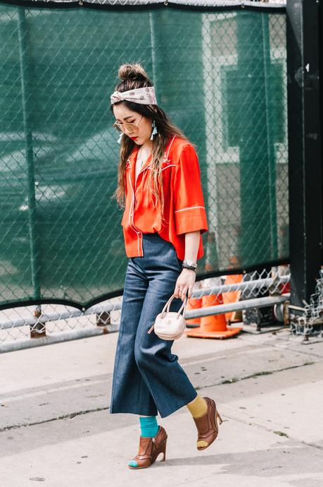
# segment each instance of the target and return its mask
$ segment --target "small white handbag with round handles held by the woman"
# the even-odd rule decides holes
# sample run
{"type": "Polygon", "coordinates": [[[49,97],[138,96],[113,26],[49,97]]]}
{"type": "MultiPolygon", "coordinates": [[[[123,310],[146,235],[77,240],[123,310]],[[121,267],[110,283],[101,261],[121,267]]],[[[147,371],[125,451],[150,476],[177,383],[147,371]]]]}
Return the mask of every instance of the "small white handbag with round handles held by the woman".
{"type": "Polygon", "coordinates": [[[164,340],[175,340],[182,337],[185,330],[184,313],[187,298],[185,296],[179,311],[170,311],[170,303],[172,303],[174,298],[175,294],[172,294],[163,307],[163,311],[156,316],[155,323],[153,323],[153,326],[148,330],[148,333],[151,333],[154,330],[156,335],[164,340]],[[181,315],[182,310],[183,314],[181,315]]]}

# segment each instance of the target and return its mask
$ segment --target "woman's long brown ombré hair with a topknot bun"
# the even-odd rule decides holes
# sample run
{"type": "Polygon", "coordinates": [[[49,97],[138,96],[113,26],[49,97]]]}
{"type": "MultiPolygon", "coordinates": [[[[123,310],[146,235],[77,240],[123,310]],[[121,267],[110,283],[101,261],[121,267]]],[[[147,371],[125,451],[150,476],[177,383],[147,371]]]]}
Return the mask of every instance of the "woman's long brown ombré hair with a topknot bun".
{"type": "MultiPolygon", "coordinates": [[[[121,82],[116,85],[115,90],[124,92],[128,90],[134,90],[135,88],[146,88],[147,86],[153,86],[151,80],[148,78],[146,71],[141,64],[122,64],[118,71],[118,77],[121,82]]],[[[187,140],[184,133],[179,130],[175,125],[167,119],[165,112],[158,107],[158,105],[146,105],[127,100],[122,100],[115,104],[123,103],[127,108],[133,112],[144,115],[151,120],[155,120],[158,133],[153,137],[153,154],[151,160],[151,171],[149,174],[148,187],[152,188],[153,195],[156,198],[156,204],[160,202],[162,208],[162,221],[163,221],[163,206],[164,206],[164,194],[163,194],[163,173],[161,172],[161,160],[165,152],[167,141],[172,136],[179,136],[180,138],[187,140]],[[153,184],[151,182],[153,181],[153,184]]],[[[110,109],[113,112],[113,105],[110,105],[110,109]]],[[[127,136],[122,137],[120,145],[120,160],[118,164],[118,188],[113,194],[113,198],[116,198],[119,205],[123,208],[125,206],[125,167],[127,159],[132,152],[134,146],[134,140],[127,136]]]]}

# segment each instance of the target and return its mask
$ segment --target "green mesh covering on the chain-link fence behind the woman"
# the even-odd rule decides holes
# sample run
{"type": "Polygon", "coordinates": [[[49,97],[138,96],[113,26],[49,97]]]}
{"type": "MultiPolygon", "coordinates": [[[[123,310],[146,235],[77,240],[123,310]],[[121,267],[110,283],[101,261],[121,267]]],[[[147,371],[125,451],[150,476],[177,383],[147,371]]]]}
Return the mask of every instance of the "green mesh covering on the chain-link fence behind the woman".
{"type": "Polygon", "coordinates": [[[122,289],[110,93],[139,61],[197,144],[199,275],[288,259],[284,13],[0,4],[0,307],[122,289]],[[122,26],[122,28],[120,28],[122,26]]]}

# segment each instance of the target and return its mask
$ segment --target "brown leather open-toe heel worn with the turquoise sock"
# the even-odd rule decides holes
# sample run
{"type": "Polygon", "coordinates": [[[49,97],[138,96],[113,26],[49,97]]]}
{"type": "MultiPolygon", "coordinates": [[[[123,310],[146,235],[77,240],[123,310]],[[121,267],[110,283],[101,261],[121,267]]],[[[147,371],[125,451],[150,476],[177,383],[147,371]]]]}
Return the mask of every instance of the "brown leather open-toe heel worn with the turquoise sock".
{"type": "Polygon", "coordinates": [[[150,467],[160,453],[163,453],[163,460],[166,459],[166,443],[167,443],[167,433],[163,426],[159,426],[158,432],[153,438],[146,438],[141,436],[139,439],[139,450],[137,455],[129,462],[129,469],[146,469],[150,467]],[[137,463],[137,467],[134,465],[137,463]],[[132,465],[131,465],[132,464],[132,465]]]}

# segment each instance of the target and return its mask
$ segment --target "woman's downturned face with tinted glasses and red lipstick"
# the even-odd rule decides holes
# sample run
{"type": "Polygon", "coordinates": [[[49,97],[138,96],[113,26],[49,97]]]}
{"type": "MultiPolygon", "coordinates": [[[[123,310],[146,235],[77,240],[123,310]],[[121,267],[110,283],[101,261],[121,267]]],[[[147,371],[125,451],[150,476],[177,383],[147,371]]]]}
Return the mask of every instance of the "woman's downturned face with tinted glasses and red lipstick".
{"type": "Polygon", "coordinates": [[[113,114],[115,116],[115,121],[118,124],[123,124],[125,122],[131,122],[137,125],[138,130],[135,128],[128,129],[126,127],[122,128],[122,131],[126,136],[132,138],[137,145],[143,145],[145,142],[150,140],[152,131],[152,121],[146,116],[142,116],[137,112],[133,112],[125,106],[123,103],[119,103],[113,107],[113,114]]]}

